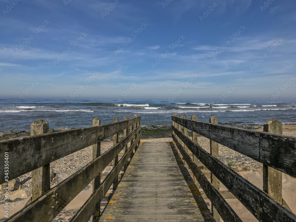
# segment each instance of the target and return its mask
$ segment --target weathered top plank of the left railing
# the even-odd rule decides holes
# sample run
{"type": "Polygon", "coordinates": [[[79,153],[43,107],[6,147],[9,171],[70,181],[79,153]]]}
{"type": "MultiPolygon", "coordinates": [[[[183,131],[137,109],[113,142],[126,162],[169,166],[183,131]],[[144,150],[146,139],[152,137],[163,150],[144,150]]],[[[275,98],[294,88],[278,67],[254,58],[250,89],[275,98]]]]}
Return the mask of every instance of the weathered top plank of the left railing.
{"type": "MultiPolygon", "coordinates": [[[[141,117],[102,126],[3,140],[0,141],[0,152],[9,152],[9,177],[16,178],[98,143],[139,120],[141,117]]],[[[4,164],[0,164],[0,172],[4,172],[4,164]]],[[[4,182],[2,173],[0,184],[4,182]]]]}

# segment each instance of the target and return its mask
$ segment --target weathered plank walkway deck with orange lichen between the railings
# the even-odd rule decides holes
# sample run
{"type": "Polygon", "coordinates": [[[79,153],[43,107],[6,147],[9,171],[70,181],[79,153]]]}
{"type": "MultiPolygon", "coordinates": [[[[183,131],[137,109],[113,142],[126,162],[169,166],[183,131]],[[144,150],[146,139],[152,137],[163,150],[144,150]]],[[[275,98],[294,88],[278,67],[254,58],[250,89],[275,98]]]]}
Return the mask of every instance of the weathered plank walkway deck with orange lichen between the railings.
{"type": "Polygon", "coordinates": [[[173,146],[141,143],[100,221],[215,221],[173,146]]]}

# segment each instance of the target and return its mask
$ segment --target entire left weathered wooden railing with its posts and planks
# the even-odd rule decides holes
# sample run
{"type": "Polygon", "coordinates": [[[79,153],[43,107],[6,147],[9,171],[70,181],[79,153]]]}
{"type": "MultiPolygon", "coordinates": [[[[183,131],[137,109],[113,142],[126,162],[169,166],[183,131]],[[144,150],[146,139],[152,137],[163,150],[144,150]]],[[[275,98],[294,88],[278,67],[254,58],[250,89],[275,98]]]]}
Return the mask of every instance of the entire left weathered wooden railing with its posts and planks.
{"type": "MultiPolygon", "coordinates": [[[[100,120],[96,118],[92,127],[58,133],[48,133],[48,123],[37,120],[31,124],[31,135],[34,136],[1,141],[1,154],[9,153],[9,178],[16,178],[32,171],[32,194],[36,194],[30,204],[6,221],[52,221],[91,181],[93,193],[71,221],[89,221],[91,216],[93,221],[98,221],[100,202],[112,184],[113,189],[116,189],[118,174],[123,168],[126,169],[128,158],[133,157],[133,150],[139,146],[140,120],[140,116],[135,115],[133,118],[131,115],[130,120],[125,116],[124,121],[118,122],[118,118],[115,117],[113,123],[100,125],[100,120]],[[124,132],[124,137],[118,141],[118,133],[121,131],[124,132]],[[101,154],[100,142],[112,135],[114,146],[101,154]],[[49,163],[91,145],[93,160],[50,189],[49,163]],[[118,154],[123,149],[125,153],[118,161],[118,154]],[[101,183],[100,173],[112,161],[113,169],[101,183]]],[[[4,164],[0,165],[0,172],[4,172],[4,164]]],[[[4,173],[0,174],[0,183],[5,183],[4,173]]]]}

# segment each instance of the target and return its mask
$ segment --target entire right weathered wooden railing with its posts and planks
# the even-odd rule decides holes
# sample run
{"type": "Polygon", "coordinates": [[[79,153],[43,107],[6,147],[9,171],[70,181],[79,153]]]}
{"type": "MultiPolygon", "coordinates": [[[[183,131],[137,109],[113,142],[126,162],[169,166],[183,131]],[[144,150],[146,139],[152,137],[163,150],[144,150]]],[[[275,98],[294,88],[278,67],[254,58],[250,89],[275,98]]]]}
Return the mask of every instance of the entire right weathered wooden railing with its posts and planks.
{"type": "Polygon", "coordinates": [[[218,125],[215,117],[210,119],[210,123],[204,123],[196,121],[195,116],[188,120],[187,116],[181,118],[181,115],[173,114],[172,120],[172,137],[176,147],[212,202],[212,214],[216,221],[220,221],[220,216],[224,221],[241,221],[219,192],[219,181],[259,221],[296,221],[296,215],[288,210],[289,207],[281,196],[281,172],[296,177],[296,138],[279,135],[282,133],[281,123],[272,119],[264,125],[265,132],[258,132],[218,125]],[[182,132],[182,126],[185,134],[182,132]],[[188,129],[192,131],[192,139],[188,136],[188,129]],[[199,146],[195,133],[210,139],[211,153],[199,146]],[[264,191],[217,159],[217,143],[263,163],[264,191]],[[211,171],[211,182],[186,149],[211,171]]]}

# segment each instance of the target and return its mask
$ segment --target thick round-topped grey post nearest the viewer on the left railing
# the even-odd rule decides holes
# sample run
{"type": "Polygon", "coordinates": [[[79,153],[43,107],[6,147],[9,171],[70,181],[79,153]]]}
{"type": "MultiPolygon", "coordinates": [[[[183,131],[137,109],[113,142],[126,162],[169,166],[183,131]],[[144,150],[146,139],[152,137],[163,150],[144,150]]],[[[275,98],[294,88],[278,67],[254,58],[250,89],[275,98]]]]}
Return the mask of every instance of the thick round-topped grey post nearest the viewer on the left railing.
{"type": "MultiPolygon", "coordinates": [[[[31,136],[48,133],[48,123],[44,120],[36,120],[31,124],[31,136]]],[[[32,201],[50,189],[49,163],[33,170],[32,177],[32,201]]]]}

